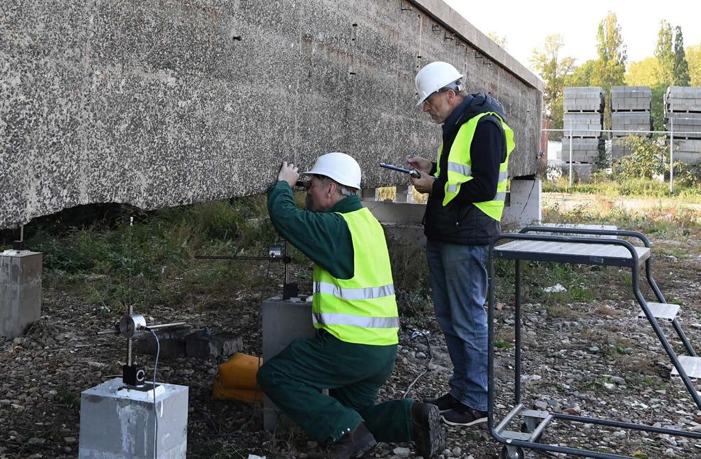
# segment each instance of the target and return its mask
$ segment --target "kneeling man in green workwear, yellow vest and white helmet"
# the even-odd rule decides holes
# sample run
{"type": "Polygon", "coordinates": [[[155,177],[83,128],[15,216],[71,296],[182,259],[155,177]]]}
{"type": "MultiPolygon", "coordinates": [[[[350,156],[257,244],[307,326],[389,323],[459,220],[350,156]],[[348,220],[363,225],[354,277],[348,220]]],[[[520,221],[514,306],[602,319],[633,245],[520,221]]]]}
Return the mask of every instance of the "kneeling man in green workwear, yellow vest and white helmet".
{"type": "Polygon", "coordinates": [[[299,173],[284,162],[268,212],[278,233],[314,261],[317,335],[266,361],[258,383],[306,434],[329,445],[329,458],[360,458],[377,441],[415,441],[428,459],[442,448],[440,411],[412,399],[375,404],[394,368],[399,317],[383,229],[357,195],[360,166],[329,153],[305,174],[307,210],[294,205],[299,173]]]}

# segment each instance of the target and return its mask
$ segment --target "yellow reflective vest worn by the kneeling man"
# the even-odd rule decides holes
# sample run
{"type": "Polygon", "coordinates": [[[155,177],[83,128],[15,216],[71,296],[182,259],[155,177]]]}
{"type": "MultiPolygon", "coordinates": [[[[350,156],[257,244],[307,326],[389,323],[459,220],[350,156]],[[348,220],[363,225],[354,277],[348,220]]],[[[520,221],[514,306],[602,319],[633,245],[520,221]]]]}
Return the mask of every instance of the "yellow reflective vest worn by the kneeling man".
{"type": "Polygon", "coordinates": [[[336,279],[314,264],[314,328],[341,341],[395,345],[399,313],[385,234],[367,208],[339,213],[353,239],[353,277],[336,279]]]}

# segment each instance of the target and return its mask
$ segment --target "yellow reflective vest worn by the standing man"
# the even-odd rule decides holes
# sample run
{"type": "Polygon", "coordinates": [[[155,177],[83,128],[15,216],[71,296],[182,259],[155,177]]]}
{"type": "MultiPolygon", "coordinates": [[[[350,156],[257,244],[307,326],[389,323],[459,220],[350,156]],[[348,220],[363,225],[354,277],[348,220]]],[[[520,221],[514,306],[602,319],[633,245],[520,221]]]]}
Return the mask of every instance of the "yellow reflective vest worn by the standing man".
{"type": "MultiPolygon", "coordinates": [[[[458,135],[453,142],[448,153],[448,180],[445,184],[445,197],[443,198],[443,206],[447,206],[460,192],[462,183],[472,180],[472,161],[470,161],[470,145],[472,138],[475,137],[475,129],[477,129],[477,121],[486,115],[492,115],[501,121],[501,127],[504,129],[506,140],[506,158],[499,165],[499,181],[496,185],[496,197],[491,201],[475,202],[479,210],[494,218],[496,221],[501,221],[501,214],[504,211],[504,199],[506,198],[506,187],[508,185],[508,165],[509,155],[516,147],[514,142],[514,131],[504,122],[501,117],[494,112],[480,113],[473,117],[467,123],[460,126],[458,135]]],[[[440,157],[443,152],[443,144],[441,143],[438,149],[437,169],[435,176],[440,174],[440,157]]]]}

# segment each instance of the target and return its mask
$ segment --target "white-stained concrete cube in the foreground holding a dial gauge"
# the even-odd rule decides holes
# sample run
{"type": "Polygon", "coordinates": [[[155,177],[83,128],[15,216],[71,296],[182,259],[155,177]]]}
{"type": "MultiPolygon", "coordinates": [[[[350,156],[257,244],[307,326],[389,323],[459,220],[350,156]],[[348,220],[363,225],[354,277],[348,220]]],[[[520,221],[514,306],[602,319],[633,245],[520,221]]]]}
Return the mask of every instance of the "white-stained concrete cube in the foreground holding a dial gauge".
{"type": "Polygon", "coordinates": [[[81,394],[79,459],[153,459],[158,418],[158,459],[185,459],[186,386],[158,383],[153,391],[121,389],[114,378],[81,394]]]}

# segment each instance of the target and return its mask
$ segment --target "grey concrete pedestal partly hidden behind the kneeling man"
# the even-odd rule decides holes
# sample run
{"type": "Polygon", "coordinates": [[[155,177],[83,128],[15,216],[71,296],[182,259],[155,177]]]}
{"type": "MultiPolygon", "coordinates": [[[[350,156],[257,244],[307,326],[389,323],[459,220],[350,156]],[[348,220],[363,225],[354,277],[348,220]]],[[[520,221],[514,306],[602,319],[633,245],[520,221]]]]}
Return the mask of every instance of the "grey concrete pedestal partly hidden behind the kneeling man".
{"type": "MultiPolygon", "coordinates": [[[[263,302],[263,362],[277,355],[295,338],[313,338],[316,330],[312,324],[311,302],[292,302],[270,298],[263,302]]],[[[275,430],[289,425],[273,402],[264,397],[263,427],[275,430]]]]}

